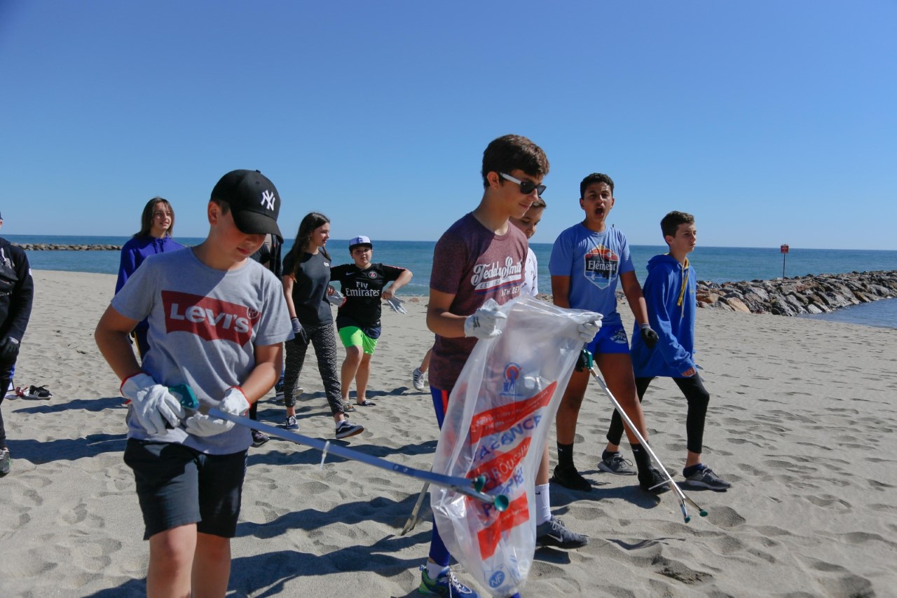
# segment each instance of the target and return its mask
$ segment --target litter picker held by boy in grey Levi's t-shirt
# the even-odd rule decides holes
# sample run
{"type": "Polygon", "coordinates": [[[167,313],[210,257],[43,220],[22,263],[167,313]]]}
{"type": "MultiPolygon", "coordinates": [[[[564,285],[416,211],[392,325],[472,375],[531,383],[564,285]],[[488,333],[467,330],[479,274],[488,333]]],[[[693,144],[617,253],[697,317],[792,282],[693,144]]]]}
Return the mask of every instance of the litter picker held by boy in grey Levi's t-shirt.
{"type": "MultiPolygon", "coordinates": [[[[173,386],[169,389],[169,391],[173,395],[178,397],[181,405],[183,405],[186,409],[196,410],[199,408],[199,401],[196,400],[196,394],[194,394],[193,389],[187,386],[187,384],[179,384],[178,386],[173,386]]],[[[422,479],[436,486],[451,488],[456,492],[465,495],[466,497],[475,498],[477,500],[483,501],[484,503],[488,503],[494,506],[495,509],[500,512],[508,508],[508,497],[502,494],[492,496],[482,491],[486,485],[486,477],[483,475],[478,476],[475,479],[468,479],[457,476],[447,476],[433,471],[417,470],[413,467],[399,465],[398,463],[390,462],[386,459],[380,459],[379,457],[374,457],[370,454],[361,453],[361,451],[354,451],[353,449],[347,448],[341,444],[330,444],[329,440],[309,438],[309,436],[303,436],[300,434],[296,434],[295,432],[282,430],[279,427],[269,426],[268,424],[262,423],[260,421],[249,418],[240,418],[239,416],[231,415],[230,413],[224,413],[221,409],[209,408],[207,414],[212,416],[213,418],[226,419],[227,421],[233,422],[234,424],[237,424],[239,426],[266,432],[270,435],[277,436],[278,438],[283,438],[283,440],[288,440],[295,444],[302,444],[303,446],[310,446],[311,448],[318,449],[318,451],[322,453],[322,467],[324,466],[324,460],[327,459],[327,453],[333,453],[336,456],[343,457],[344,459],[351,459],[353,461],[359,461],[362,463],[367,463],[368,465],[372,465],[374,467],[379,467],[379,469],[381,470],[393,471],[395,473],[400,473],[411,478],[422,479]]]]}

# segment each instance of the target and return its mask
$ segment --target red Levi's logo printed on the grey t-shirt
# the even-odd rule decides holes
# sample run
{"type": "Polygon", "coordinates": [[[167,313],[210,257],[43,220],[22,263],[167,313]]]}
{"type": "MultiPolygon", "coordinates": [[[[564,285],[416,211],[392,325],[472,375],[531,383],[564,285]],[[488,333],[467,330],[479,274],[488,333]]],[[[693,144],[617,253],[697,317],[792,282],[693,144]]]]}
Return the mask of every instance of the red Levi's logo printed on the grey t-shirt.
{"type": "Polygon", "coordinates": [[[205,340],[230,340],[242,347],[252,339],[261,313],[205,295],[162,291],[167,332],[192,332],[205,340]]]}

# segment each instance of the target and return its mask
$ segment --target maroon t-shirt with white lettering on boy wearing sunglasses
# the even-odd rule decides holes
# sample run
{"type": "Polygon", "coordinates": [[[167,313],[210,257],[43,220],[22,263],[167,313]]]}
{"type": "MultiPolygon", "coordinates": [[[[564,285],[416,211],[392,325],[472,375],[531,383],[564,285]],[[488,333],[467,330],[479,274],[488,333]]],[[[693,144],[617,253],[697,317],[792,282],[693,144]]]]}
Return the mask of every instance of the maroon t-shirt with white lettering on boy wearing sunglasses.
{"type": "MultiPolygon", "coordinates": [[[[448,312],[468,316],[489,298],[507,303],[520,295],[527,261],[527,237],[508,225],[508,232],[494,234],[467,214],[436,242],[430,288],[455,295],[448,312]]],[[[430,383],[451,391],[475,338],[446,339],[436,335],[430,357],[430,383]]]]}

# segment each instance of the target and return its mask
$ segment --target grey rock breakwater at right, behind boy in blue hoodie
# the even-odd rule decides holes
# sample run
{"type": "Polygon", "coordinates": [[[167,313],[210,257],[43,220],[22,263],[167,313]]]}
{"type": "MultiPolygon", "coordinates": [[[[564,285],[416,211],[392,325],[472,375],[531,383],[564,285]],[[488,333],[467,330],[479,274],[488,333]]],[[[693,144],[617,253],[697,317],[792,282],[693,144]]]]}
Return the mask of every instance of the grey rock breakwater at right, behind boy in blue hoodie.
{"type": "Polygon", "coordinates": [[[840,307],[897,297],[897,270],[711,283],[698,281],[699,307],[728,312],[828,313],[840,307]]]}

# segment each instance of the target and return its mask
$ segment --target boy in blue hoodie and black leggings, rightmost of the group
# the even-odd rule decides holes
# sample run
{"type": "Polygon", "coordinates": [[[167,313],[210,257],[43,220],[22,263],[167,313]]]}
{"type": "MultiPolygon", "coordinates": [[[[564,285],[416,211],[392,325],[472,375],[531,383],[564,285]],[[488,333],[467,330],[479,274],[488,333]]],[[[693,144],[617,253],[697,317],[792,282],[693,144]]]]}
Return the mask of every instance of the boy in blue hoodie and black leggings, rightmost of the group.
{"type": "MultiPolygon", "coordinates": [[[[688,456],[685,459],[684,484],[697,488],[725,490],[731,484],[721,479],[701,463],[704,419],[710,394],[701,383],[694,363],[695,282],[697,276],[688,261],[694,251],[698,231],[694,216],[684,212],[670,212],[660,221],[669,253],[656,255],[648,262],[648,278],[642,289],[648,303],[651,328],[658,332],[658,343],[648,347],[638,334],[638,324],[632,335],[632,369],[635,371],[639,400],[657,376],[673,378],[688,400],[685,418],[688,456]]],[[[623,422],[614,411],[607,432],[610,442],[619,444],[623,436],[623,422]]]]}

